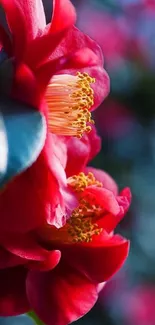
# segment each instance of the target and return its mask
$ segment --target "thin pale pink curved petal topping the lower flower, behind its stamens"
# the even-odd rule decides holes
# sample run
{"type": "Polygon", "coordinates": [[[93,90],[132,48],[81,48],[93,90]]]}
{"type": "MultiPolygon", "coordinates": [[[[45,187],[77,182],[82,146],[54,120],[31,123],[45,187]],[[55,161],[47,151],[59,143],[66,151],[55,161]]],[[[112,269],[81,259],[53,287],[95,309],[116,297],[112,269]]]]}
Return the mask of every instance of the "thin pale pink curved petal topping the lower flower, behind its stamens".
{"type": "Polygon", "coordinates": [[[118,186],[114,179],[105,171],[93,167],[86,167],[86,173],[93,173],[95,178],[103,184],[103,187],[118,195],[118,186]]]}

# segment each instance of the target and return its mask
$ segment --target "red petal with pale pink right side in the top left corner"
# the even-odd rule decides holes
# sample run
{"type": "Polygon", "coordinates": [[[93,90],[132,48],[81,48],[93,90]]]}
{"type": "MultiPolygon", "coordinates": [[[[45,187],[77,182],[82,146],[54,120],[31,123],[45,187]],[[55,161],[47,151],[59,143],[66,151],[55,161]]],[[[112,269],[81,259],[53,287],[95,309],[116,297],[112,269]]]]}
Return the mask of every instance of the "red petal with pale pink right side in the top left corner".
{"type": "Polygon", "coordinates": [[[29,42],[46,26],[42,0],[1,0],[0,3],[13,36],[14,56],[21,60],[29,42]]]}

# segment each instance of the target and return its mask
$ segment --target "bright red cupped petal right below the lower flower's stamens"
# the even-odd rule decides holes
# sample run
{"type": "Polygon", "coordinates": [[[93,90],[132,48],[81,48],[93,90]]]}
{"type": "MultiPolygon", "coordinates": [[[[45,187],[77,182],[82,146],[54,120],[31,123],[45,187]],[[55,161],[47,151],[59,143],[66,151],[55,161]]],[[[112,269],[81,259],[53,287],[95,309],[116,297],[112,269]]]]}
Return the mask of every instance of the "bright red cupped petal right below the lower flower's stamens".
{"type": "Polygon", "coordinates": [[[67,246],[62,255],[70,265],[99,283],[107,281],[121,268],[128,251],[129,242],[126,239],[106,236],[98,242],[67,246]]]}

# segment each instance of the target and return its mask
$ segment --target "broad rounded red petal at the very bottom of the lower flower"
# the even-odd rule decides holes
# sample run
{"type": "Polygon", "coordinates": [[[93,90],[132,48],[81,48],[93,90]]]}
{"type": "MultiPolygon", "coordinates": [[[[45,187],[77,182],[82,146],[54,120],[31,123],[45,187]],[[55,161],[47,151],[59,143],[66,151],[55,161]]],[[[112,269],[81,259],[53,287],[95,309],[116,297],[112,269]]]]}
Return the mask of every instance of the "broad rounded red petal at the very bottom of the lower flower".
{"type": "Polygon", "coordinates": [[[27,295],[39,318],[48,325],[68,325],[95,304],[96,286],[80,273],[62,265],[52,272],[30,272],[27,295]]]}

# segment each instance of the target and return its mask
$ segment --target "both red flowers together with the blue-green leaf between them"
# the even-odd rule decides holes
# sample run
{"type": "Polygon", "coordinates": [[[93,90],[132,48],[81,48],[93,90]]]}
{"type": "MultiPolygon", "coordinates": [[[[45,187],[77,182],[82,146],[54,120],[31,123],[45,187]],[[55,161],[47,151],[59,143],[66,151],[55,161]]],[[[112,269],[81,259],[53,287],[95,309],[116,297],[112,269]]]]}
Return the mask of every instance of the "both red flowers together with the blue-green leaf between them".
{"type": "Polygon", "coordinates": [[[47,325],[67,325],[92,308],[129,250],[113,231],[130,190],[119,194],[107,173],[87,167],[100,150],[91,111],[109,78],[99,46],[74,26],[69,0],[53,0],[48,25],[41,0],[0,4],[9,149],[0,179],[0,315],[33,310],[47,325]]]}

